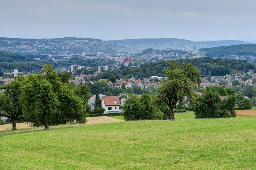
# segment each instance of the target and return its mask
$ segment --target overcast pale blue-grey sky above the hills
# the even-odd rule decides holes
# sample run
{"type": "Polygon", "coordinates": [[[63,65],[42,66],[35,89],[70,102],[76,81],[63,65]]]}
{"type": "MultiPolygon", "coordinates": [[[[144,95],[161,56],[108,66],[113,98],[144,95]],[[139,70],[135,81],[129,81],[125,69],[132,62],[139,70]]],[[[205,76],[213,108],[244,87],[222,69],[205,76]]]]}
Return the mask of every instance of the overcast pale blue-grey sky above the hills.
{"type": "Polygon", "coordinates": [[[256,40],[255,0],[0,0],[0,37],[256,40]]]}

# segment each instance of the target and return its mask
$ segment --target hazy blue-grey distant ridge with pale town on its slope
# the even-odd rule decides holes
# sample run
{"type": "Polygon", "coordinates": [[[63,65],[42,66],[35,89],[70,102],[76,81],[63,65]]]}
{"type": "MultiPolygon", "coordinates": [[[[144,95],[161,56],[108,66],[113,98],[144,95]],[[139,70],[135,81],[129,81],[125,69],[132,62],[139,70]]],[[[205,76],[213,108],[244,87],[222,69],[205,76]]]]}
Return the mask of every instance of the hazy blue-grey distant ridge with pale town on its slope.
{"type": "Polygon", "coordinates": [[[136,52],[142,52],[144,49],[180,49],[192,50],[193,46],[198,48],[211,48],[218,46],[230,46],[238,44],[251,44],[250,42],[237,40],[220,40],[220,41],[190,41],[178,38],[142,38],[108,41],[133,49],[136,52]]]}

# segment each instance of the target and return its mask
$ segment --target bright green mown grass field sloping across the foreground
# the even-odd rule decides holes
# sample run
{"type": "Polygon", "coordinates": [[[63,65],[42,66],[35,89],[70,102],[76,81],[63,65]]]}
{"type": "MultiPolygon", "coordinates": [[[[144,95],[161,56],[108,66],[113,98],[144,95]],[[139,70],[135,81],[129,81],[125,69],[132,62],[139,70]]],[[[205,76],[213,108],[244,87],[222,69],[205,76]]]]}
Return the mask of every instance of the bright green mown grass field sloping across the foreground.
{"type": "Polygon", "coordinates": [[[0,169],[255,169],[256,117],[182,114],[2,136],[0,169]]]}

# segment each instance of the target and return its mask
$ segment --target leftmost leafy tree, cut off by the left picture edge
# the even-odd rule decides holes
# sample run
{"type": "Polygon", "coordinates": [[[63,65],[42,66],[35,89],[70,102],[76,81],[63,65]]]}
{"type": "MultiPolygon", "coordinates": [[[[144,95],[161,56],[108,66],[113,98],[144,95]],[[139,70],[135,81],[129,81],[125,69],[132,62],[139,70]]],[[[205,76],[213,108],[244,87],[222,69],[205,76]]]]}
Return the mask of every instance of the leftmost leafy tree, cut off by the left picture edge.
{"type": "Polygon", "coordinates": [[[12,130],[16,130],[16,120],[22,115],[21,81],[22,76],[14,78],[11,83],[0,86],[0,116],[12,119],[12,130]]]}

